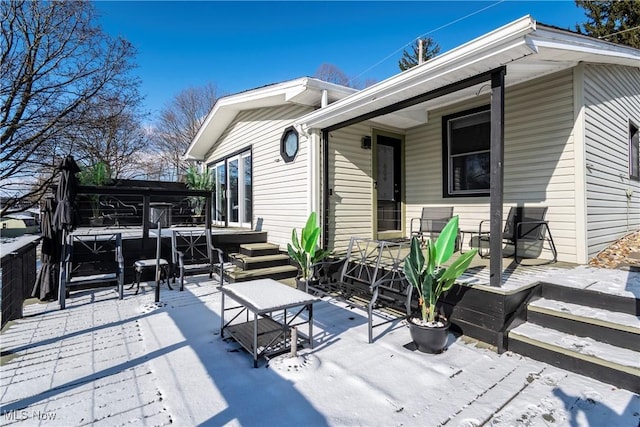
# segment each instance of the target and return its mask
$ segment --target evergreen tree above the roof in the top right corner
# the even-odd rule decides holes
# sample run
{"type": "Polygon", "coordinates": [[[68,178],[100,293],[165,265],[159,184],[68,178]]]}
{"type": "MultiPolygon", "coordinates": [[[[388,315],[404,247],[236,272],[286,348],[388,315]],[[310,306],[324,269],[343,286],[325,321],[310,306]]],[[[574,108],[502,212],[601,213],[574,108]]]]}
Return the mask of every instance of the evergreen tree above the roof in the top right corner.
{"type": "Polygon", "coordinates": [[[640,49],[640,1],[576,0],[576,6],[588,19],[576,26],[578,32],[640,49]]]}

